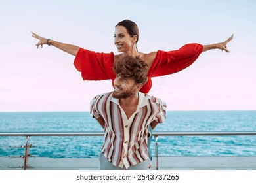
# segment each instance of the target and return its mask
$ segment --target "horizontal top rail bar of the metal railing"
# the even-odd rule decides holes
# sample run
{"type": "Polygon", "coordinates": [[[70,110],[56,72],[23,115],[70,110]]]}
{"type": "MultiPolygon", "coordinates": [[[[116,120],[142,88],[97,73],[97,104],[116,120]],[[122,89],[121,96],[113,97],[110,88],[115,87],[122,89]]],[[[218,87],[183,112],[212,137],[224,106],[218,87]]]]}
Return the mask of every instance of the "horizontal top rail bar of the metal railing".
{"type": "MultiPolygon", "coordinates": [[[[154,136],[256,135],[256,131],[153,132],[154,136]]],[[[103,132],[0,132],[0,136],[104,136],[103,132]]]]}

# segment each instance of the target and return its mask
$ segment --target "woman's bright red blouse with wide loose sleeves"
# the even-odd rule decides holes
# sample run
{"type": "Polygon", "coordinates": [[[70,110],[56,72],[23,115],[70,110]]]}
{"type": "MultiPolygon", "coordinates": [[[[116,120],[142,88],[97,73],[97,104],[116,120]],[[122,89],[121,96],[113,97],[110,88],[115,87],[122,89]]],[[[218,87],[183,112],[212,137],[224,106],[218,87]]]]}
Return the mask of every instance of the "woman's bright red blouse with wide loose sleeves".
{"type": "MultiPolygon", "coordinates": [[[[144,84],[140,92],[148,93],[152,87],[151,77],[170,75],[190,66],[202,53],[201,44],[186,44],[169,52],[158,50],[150,70],[148,82],[144,84]]],[[[75,68],[81,72],[83,80],[108,80],[114,81],[116,75],[113,72],[114,53],[95,53],[80,48],[75,56],[75,68]]]]}

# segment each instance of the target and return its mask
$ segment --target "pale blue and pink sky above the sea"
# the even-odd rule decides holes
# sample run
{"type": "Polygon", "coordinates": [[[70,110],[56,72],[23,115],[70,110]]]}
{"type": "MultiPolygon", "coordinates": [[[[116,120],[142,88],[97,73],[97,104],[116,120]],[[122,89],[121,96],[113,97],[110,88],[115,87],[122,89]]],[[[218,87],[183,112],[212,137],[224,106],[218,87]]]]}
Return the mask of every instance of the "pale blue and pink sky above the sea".
{"type": "Polygon", "coordinates": [[[0,0],[0,112],[88,111],[110,80],[83,81],[74,56],[36,48],[31,31],[95,52],[114,52],[114,27],[139,26],[139,52],[229,42],[230,53],[203,52],[190,67],[153,78],[150,95],[167,110],[256,110],[256,1],[0,0]]]}

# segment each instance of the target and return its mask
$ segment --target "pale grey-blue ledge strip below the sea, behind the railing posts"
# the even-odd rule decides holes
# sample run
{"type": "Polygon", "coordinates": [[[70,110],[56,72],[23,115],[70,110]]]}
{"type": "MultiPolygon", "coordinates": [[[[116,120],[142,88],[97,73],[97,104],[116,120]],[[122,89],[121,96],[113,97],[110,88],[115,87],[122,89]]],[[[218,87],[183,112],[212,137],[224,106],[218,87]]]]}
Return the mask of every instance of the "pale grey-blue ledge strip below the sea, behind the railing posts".
{"type": "MultiPolygon", "coordinates": [[[[152,165],[156,169],[156,161],[152,165]]],[[[23,169],[24,159],[0,157],[0,170],[23,169]]],[[[98,169],[98,158],[30,158],[29,169],[78,170],[98,169]]],[[[255,156],[232,157],[160,157],[160,170],[256,170],[255,156]]]]}

